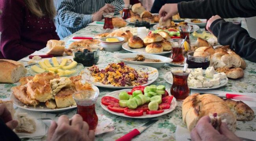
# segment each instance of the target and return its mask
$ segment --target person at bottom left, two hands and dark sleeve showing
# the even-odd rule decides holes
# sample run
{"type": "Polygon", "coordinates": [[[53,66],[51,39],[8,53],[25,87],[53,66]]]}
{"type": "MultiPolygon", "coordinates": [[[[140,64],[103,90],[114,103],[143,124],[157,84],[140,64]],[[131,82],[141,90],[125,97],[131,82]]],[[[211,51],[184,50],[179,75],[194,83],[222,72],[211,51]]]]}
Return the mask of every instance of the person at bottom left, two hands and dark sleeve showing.
{"type": "MultiPolygon", "coordinates": [[[[17,126],[18,121],[12,119],[11,113],[4,104],[0,104],[1,141],[20,141],[13,132],[17,126]]],[[[65,115],[60,116],[58,125],[52,121],[47,135],[47,141],[94,141],[94,138],[94,131],[89,130],[89,125],[78,114],[75,114],[71,120],[65,115]]]]}

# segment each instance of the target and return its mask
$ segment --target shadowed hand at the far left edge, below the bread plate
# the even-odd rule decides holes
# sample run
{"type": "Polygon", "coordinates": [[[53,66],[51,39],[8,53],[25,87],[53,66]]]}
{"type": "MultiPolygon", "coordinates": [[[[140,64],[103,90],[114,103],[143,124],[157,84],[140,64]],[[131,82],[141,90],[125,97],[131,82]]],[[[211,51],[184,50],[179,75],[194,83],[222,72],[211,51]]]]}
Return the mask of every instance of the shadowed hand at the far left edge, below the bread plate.
{"type": "Polygon", "coordinates": [[[11,113],[4,104],[0,104],[0,118],[4,120],[6,126],[11,128],[11,130],[18,126],[18,121],[13,120],[13,118],[11,117],[11,113]]]}

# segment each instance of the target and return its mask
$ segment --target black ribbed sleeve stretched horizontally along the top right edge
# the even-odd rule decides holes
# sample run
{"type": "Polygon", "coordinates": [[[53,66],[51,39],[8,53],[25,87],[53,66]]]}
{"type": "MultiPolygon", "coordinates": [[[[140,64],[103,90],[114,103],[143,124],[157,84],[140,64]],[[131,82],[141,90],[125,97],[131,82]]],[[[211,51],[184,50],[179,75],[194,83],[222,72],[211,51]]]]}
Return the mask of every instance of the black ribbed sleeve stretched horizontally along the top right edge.
{"type": "Polygon", "coordinates": [[[181,18],[221,18],[256,16],[256,0],[196,0],[178,3],[181,18]]]}

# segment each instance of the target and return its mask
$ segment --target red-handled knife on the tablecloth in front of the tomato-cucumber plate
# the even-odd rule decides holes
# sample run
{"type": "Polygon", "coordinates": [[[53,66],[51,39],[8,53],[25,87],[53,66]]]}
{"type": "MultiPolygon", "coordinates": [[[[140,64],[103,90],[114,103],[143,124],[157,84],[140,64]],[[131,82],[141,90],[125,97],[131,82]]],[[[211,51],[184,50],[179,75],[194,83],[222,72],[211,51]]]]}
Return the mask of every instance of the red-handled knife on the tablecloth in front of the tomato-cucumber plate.
{"type": "Polygon", "coordinates": [[[124,136],[120,137],[116,141],[131,141],[133,137],[141,134],[141,132],[146,130],[152,124],[156,123],[156,121],[158,121],[158,119],[152,119],[152,120],[148,121],[147,123],[145,123],[144,125],[142,125],[142,127],[132,130],[131,132],[125,134],[124,136]]]}

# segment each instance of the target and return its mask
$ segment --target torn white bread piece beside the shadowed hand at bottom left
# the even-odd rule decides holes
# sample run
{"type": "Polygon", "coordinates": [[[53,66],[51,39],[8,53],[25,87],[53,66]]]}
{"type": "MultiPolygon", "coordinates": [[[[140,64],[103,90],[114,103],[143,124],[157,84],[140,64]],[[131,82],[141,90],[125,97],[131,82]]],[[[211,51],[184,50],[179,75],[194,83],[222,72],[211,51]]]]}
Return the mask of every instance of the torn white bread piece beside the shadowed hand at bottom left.
{"type": "Polygon", "coordinates": [[[35,119],[28,116],[28,113],[17,114],[18,126],[15,128],[16,132],[35,132],[35,119]]]}

